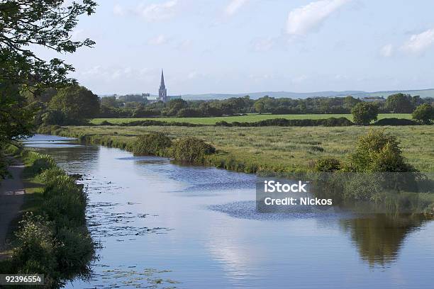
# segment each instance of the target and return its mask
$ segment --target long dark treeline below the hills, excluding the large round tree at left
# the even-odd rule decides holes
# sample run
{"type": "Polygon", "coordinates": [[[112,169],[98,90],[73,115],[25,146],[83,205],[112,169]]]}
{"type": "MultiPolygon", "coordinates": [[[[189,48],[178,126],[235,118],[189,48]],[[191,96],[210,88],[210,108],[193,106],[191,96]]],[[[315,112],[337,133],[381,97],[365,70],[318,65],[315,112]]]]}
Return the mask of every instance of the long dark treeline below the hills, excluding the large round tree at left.
{"type": "MultiPolygon", "coordinates": [[[[351,113],[357,103],[366,102],[352,96],[334,98],[272,98],[264,96],[257,100],[249,96],[213,101],[184,101],[176,99],[169,103],[123,102],[115,96],[101,98],[100,118],[152,118],[178,117],[199,118],[244,113],[272,114],[332,114],[351,113]]],[[[434,98],[421,98],[408,94],[393,94],[383,98],[369,99],[379,113],[412,113],[423,103],[434,103],[434,98]]]]}

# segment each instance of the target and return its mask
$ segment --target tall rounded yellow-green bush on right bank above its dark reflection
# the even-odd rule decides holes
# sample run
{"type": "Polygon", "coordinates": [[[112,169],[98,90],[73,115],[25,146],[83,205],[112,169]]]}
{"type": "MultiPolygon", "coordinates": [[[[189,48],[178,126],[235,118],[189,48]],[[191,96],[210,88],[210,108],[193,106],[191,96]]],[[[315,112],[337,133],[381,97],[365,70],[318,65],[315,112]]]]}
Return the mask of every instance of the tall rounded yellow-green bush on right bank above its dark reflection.
{"type": "Polygon", "coordinates": [[[414,171],[402,156],[396,137],[383,130],[369,130],[359,138],[355,153],[350,155],[350,167],[367,173],[414,171]]]}

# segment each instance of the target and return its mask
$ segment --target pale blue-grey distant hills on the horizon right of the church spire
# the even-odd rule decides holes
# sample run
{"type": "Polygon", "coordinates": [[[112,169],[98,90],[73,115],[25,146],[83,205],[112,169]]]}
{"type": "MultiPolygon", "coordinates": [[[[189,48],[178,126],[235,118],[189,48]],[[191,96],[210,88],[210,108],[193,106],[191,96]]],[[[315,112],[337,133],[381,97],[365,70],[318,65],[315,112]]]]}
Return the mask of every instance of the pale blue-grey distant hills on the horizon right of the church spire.
{"type": "Polygon", "coordinates": [[[182,98],[187,100],[210,100],[210,99],[225,99],[231,97],[250,96],[252,99],[261,98],[262,96],[270,96],[274,98],[308,98],[308,97],[335,97],[335,96],[354,96],[362,98],[366,96],[384,96],[391,94],[411,94],[412,96],[434,97],[434,89],[422,90],[402,90],[402,91],[317,91],[317,92],[290,92],[290,91],[262,91],[251,92],[245,94],[185,94],[182,98]]]}

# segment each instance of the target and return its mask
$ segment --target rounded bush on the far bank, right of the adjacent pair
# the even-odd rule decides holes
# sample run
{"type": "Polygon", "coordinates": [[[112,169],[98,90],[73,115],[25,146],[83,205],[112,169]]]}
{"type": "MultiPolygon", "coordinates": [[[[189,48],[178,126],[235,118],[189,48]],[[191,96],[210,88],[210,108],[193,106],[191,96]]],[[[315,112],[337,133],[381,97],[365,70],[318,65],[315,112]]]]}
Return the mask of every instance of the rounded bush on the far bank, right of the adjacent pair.
{"type": "Polygon", "coordinates": [[[216,149],[208,145],[204,140],[196,137],[183,137],[173,143],[170,156],[180,162],[203,164],[208,154],[213,154],[216,149]]]}

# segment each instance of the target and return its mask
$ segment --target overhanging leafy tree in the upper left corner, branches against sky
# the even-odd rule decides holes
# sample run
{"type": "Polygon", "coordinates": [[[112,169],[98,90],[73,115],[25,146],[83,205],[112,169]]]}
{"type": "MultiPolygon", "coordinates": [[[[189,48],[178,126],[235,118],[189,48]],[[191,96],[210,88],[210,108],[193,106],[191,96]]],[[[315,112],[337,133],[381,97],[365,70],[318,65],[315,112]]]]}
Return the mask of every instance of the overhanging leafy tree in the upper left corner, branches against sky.
{"type": "Polygon", "coordinates": [[[0,0],[0,142],[13,142],[33,132],[35,106],[24,98],[30,91],[40,96],[45,89],[71,84],[73,67],[53,58],[45,61],[30,50],[46,47],[56,52],[75,52],[94,44],[89,39],[72,41],[78,16],[94,13],[96,3],[82,0],[0,0]]]}

